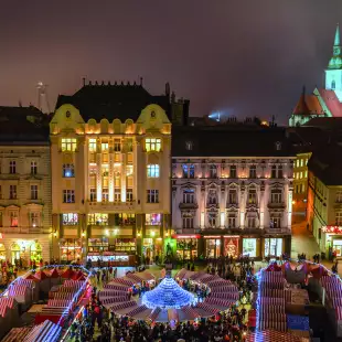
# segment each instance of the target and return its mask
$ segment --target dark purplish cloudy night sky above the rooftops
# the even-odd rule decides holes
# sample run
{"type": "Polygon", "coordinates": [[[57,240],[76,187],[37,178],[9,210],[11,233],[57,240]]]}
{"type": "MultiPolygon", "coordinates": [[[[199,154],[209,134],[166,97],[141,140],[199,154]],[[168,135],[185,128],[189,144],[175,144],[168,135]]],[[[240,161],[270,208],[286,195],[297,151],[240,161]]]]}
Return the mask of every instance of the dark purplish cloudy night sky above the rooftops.
{"type": "Polygon", "coordinates": [[[302,85],[322,84],[341,0],[7,1],[0,105],[36,104],[35,84],[72,94],[89,79],[170,82],[191,115],[272,114],[285,121],[302,85]]]}

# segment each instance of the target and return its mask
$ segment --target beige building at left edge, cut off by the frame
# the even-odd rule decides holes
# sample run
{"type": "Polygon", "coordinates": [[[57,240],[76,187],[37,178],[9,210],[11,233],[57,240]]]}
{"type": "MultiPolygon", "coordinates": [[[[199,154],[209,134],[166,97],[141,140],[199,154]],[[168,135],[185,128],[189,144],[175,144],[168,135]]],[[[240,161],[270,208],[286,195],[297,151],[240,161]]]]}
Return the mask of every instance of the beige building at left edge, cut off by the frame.
{"type": "Polygon", "coordinates": [[[0,259],[49,260],[51,168],[47,117],[0,107],[0,259]]]}

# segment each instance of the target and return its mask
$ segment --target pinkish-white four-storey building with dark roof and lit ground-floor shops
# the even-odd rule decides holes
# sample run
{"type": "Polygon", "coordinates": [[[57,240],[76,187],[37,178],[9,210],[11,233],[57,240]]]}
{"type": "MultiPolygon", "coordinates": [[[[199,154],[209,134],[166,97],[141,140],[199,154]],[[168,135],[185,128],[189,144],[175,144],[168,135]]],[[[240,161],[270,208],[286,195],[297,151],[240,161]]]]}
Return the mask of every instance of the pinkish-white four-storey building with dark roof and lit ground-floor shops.
{"type": "Polygon", "coordinates": [[[296,156],[285,131],[193,127],[172,135],[178,257],[289,254],[296,156]]]}

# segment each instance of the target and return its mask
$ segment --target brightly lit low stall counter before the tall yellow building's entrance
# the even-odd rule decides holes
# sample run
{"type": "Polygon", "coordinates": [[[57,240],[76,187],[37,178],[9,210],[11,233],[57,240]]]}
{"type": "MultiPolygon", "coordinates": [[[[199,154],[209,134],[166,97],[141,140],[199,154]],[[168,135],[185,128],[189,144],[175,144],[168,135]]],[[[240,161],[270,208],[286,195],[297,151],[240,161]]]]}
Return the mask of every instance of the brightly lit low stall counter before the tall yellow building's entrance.
{"type": "Polygon", "coordinates": [[[125,252],[89,252],[87,255],[87,260],[92,261],[93,266],[98,266],[98,260],[100,260],[100,266],[111,266],[111,267],[128,267],[136,266],[136,256],[128,255],[125,252]]]}

